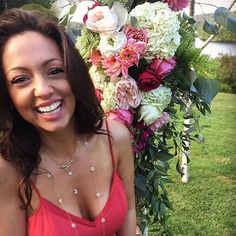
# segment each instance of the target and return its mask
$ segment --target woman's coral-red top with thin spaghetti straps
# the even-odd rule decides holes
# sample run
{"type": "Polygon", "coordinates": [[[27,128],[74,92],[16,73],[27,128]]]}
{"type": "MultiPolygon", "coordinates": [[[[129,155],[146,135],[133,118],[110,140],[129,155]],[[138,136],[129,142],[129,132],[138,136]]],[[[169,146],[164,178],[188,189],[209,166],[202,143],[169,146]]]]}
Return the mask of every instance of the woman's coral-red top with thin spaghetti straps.
{"type": "MultiPolygon", "coordinates": [[[[108,139],[114,166],[114,155],[109,136],[108,139]]],[[[108,200],[94,221],[65,212],[43,198],[34,185],[33,188],[39,197],[39,207],[28,218],[28,236],[114,236],[123,225],[127,214],[127,197],[117,170],[114,170],[113,173],[108,200]],[[76,227],[72,227],[68,216],[76,227]]]]}

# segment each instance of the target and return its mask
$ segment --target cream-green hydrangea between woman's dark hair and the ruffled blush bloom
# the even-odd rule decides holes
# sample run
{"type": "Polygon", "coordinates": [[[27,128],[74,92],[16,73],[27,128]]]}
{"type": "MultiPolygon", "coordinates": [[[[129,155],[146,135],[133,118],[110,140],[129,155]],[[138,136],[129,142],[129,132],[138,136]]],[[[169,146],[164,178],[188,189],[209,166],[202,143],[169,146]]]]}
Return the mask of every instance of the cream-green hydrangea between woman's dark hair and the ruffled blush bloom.
{"type": "Polygon", "coordinates": [[[115,84],[111,82],[105,83],[101,101],[101,106],[105,112],[115,110],[118,107],[115,100],[115,91],[115,84]]]}

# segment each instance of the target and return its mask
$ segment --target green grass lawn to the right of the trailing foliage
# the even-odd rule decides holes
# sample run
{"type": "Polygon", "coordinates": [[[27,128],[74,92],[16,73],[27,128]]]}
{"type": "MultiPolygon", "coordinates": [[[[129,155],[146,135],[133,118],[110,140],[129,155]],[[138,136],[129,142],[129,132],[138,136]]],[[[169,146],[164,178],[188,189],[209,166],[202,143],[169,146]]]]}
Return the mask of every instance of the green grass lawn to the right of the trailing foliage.
{"type": "MultiPolygon", "coordinates": [[[[190,182],[183,184],[172,160],[169,226],[174,235],[236,235],[236,95],[220,93],[201,124],[205,144],[192,143],[190,182]]],[[[158,233],[156,234],[158,235],[158,233]]]]}

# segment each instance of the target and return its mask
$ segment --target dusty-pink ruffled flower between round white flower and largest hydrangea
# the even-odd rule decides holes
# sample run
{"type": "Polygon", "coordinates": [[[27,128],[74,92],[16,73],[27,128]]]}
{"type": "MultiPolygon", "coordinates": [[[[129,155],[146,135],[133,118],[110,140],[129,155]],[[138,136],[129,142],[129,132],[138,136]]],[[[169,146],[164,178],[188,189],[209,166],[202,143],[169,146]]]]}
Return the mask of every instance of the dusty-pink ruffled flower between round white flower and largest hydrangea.
{"type": "Polygon", "coordinates": [[[138,29],[132,25],[129,25],[129,26],[125,27],[124,33],[128,39],[132,38],[132,39],[135,39],[136,41],[142,41],[145,43],[148,42],[147,31],[142,28],[138,29]]]}

